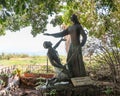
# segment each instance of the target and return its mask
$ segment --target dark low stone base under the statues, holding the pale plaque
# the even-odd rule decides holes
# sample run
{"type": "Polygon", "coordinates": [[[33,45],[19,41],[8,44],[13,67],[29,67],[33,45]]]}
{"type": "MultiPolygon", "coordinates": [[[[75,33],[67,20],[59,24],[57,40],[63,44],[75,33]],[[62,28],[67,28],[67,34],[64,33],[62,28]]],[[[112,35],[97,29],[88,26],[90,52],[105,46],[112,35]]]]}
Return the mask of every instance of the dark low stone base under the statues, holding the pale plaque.
{"type": "MultiPolygon", "coordinates": [[[[78,78],[79,80],[83,79],[83,77],[78,78]]],[[[79,81],[78,78],[77,81],[79,81]]],[[[85,78],[88,79],[88,77],[84,77],[84,80],[85,78]]],[[[51,86],[44,85],[39,88],[38,94],[40,94],[39,96],[100,96],[99,88],[92,84],[92,80],[88,83],[88,80],[81,81],[82,85],[79,83],[78,86],[74,86],[74,80],[71,80],[71,82],[57,82],[51,86]]]]}

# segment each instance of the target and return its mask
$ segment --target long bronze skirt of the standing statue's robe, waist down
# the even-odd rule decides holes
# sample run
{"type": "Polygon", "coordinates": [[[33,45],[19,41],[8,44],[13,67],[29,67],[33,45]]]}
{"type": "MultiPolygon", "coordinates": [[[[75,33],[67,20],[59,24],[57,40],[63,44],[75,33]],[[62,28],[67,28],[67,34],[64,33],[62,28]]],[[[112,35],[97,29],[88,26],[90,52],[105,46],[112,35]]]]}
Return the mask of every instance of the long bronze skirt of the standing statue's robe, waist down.
{"type": "Polygon", "coordinates": [[[72,77],[81,77],[86,75],[82,56],[82,49],[80,45],[70,45],[67,56],[67,64],[72,77]]]}

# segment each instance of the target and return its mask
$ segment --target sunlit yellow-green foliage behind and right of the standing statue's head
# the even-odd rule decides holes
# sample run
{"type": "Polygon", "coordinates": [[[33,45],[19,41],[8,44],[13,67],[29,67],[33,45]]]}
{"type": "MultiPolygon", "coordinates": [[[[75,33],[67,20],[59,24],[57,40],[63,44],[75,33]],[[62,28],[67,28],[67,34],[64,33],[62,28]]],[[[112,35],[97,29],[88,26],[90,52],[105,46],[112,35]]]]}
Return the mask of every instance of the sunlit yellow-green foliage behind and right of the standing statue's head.
{"type": "MultiPolygon", "coordinates": [[[[120,47],[120,3],[119,0],[81,0],[68,2],[65,6],[67,10],[63,15],[65,24],[70,22],[69,17],[75,13],[78,15],[80,23],[87,28],[90,36],[95,36],[102,40],[120,47]]],[[[69,25],[69,24],[68,24],[69,25]]]]}

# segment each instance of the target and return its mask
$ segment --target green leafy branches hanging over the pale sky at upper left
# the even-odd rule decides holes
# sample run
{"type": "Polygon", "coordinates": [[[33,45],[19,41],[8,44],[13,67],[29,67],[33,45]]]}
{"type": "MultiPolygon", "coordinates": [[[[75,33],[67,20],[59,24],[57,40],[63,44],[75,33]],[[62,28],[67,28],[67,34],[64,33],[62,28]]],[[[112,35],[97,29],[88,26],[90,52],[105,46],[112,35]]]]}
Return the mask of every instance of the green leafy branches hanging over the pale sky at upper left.
{"type": "Polygon", "coordinates": [[[0,1],[0,32],[4,30],[20,30],[32,26],[32,35],[46,30],[48,15],[59,10],[60,0],[1,0],[0,1]],[[57,7],[56,7],[57,6],[57,7]]]}

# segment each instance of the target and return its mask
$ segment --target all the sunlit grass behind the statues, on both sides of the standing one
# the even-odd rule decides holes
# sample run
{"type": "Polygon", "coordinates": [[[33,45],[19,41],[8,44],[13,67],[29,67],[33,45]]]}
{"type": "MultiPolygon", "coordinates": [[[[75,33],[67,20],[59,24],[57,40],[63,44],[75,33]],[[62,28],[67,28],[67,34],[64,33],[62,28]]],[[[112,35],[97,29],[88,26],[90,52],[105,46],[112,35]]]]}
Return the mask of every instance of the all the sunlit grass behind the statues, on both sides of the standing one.
{"type": "MultiPolygon", "coordinates": [[[[66,64],[66,56],[60,56],[61,62],[62,64],[66,64]]],[[[90,64],[89,63],[89,58],[85,58],[84,62],[85,62],[85,66],[86,69],[96,69],[96,66],[98,66],[98,64],[96,64],[95,62],[93,62],[90,64]]],[[[18,68],[20,69],[24,69],[24,67],[27,67],[27,65],[42,65],[42,69],[46,70],[46,65],[48,62],[48,65],[51,66],[49,60],[47,58],[47,56],[26,56],[26,57],[20,57],[20,56],[13,56],[10,57],[9,59],[4,58],[0,60],[0,65],[3,66],[12,66],[12,65],[16,65],[18,68]]]]}

